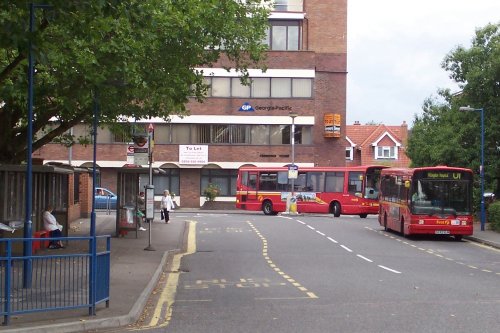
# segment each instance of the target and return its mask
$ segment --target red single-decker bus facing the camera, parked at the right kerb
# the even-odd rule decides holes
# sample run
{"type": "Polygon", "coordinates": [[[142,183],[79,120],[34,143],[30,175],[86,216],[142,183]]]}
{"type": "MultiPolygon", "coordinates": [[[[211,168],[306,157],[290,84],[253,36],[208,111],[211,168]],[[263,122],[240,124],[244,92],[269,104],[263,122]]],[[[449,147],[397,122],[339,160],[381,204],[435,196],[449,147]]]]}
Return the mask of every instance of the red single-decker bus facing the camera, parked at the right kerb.
{"type": "Polygon", "coordinates": [[[415,234],[472,235],[470,169],[436,166],[387,168],[380,177],[379,223],[384,229],[415,234]]]}

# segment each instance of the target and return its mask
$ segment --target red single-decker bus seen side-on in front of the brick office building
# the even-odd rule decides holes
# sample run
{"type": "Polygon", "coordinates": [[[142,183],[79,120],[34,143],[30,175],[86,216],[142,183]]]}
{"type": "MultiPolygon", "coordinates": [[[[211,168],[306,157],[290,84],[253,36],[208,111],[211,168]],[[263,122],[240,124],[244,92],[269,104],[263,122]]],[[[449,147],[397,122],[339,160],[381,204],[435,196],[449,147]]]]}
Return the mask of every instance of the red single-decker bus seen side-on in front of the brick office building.
{"type": "Polygon", "coordinates": [[[287,210],[287,198],[297,198],[299,213],[359,215],[378,213],[378,183],[384,166],[299,167],[288,178],[287,167],[242,167],[238,172],[236,207],[276,215],[287,210]]]}

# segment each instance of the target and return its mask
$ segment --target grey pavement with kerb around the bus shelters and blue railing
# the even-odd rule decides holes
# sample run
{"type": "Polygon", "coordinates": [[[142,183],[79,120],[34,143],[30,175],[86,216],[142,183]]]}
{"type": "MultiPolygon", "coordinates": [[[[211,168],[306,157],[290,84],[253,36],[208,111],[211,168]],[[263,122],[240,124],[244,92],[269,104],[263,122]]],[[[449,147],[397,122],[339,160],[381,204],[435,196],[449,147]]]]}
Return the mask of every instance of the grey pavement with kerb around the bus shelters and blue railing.
{"type": "MultiPolygon", "coordinates": [[[[188,222],[182,213],[255,214],[241,210],[206,211],[178,209],[171,214],[169,224],[159,218],[152,224],[152,232],[139,231],[125,237],[111,238],[110,304],[99,304],[95,316],[88,309],[40,312],[13,316],[1,331],[11,332],[88,332],[133,325],[137,322],[153,292],[162,272],[168,270],[176,253],[185,252],[188,222]],[[154,251],[145,250],[154,249],[154,251]]],[[[260,213],[261,214],[261,213],[260,213]]],[[[159,214],[158,214],[159,216],[159,214]]],[[[149,228],[148,224],[145,224],[149,228]]],[[[70,226],[70,236],[89,235],[90,219],[79,219],[70,226]]],[[[115,234],[115,214],[99,212],[96,217],[96,234],[115,234]]],[[[464,237],[500,249],[500,233],[481,231],[474,225],[474,235],[464,237]]]]}

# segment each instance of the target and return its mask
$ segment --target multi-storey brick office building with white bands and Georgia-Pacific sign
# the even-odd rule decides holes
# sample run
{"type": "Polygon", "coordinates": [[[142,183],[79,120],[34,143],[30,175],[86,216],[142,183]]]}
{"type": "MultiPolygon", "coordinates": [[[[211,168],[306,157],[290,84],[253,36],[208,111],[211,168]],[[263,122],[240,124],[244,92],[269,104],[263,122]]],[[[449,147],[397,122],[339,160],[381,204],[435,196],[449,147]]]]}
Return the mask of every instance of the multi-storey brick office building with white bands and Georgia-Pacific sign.
{"type": "MultiPolygon", "coordinates": [[[[182,207],[200,207],[204,188],[217,183],[218,200],[234,201],[239,167],[291,163],[290,113],[297,115],[299,167],[346,165],[347,0],[278,0],[269,23],[268,70],[251,69],[250,87],[215,64],[205,69],[209,96],[187,105],[190,116],[137,121],[154,127],[153,169],[161,170],[153,176],[155,195],[170,189],[182,207]]],[[[73,129],[75,136],[88,130],[73,129]]],[[[97,144],[99,185],[116,191],[129,143],[99,129],[97,144]]],[[[92,153],[89,146],[49,144],[34,157],[88,167],[92,153]]]]}

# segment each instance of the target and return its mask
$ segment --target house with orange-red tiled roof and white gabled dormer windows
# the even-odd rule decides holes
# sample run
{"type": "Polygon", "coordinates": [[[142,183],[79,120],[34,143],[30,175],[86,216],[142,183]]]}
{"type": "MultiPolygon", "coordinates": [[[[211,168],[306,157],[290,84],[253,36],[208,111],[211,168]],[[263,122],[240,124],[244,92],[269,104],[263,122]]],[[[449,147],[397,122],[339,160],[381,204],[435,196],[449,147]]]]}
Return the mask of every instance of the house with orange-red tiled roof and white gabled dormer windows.
{"type": "Polygon", "coordinates": [[[410,166],[406,155],[408,125],[400,126],[354,125],[346,126],[346,165],[410,166]]]}

